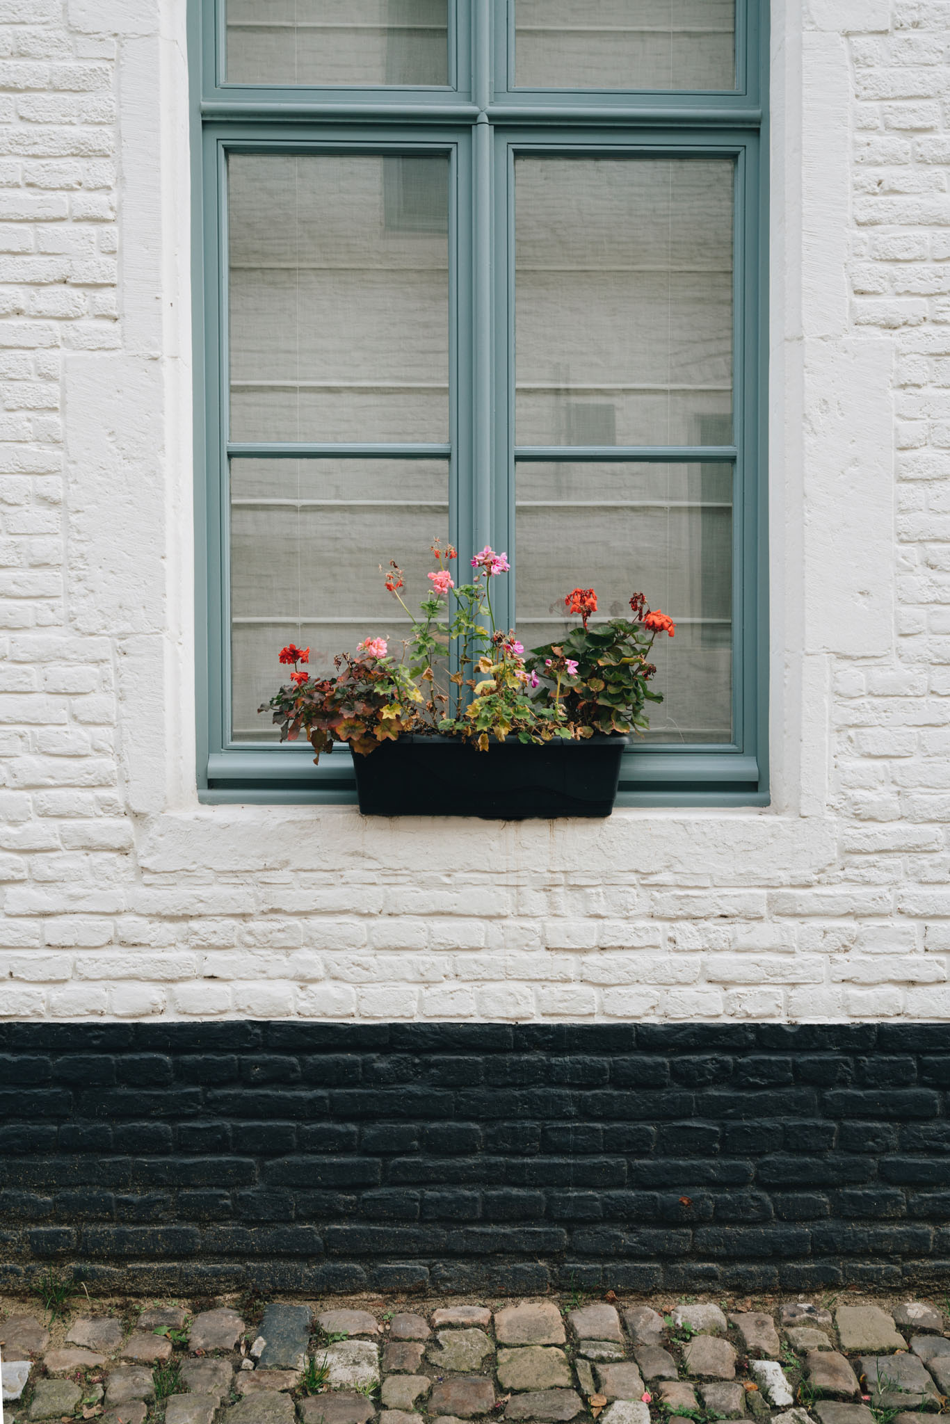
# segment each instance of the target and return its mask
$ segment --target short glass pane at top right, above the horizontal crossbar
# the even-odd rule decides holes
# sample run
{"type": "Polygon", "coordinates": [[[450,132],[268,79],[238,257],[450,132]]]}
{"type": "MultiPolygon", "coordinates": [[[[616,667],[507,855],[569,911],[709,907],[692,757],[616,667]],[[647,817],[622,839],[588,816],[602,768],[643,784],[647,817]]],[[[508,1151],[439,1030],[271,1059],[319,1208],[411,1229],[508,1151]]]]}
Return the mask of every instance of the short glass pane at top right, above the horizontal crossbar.
{"type": "Polygon", "coordinates": [[[514,16],[521,88],[735,88],[735,0],[516,0],[514,16]]]}

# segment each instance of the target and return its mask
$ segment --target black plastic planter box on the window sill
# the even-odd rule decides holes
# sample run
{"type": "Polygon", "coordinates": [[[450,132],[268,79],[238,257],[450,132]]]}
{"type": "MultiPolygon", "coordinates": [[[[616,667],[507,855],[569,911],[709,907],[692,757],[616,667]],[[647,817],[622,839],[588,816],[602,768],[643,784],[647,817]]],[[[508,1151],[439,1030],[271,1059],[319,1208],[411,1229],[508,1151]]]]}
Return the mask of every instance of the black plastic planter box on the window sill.
{"type": "Polygon", "coordinates": [[[625,736],[584,742],[491,742],[400,736],[353,756],[363,816],[481,816],[484,820],[610,816],[625,736]]]}

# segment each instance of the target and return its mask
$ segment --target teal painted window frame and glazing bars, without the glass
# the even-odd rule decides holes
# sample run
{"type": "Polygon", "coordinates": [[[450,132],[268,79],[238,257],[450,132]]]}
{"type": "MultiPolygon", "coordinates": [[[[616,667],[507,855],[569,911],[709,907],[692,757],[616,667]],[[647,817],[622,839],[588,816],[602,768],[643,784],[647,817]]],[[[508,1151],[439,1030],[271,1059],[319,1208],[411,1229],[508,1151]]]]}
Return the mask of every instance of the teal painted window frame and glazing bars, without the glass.
{"type": "MultiPolygon", "coordinates": [[[[736,0],[736,88],[517,90],[516,0],[449,4],[451,83],[409,88],[231,85],[225,0],[189,0],[195,330],[197,779],[207,803],[356,800],[352,758],[313,766],[308,746],[229,740],[228,460],[437,456],[450,464],[460,553],[514,550],[516,467],[527,459],[691,460],[734,470],[734,739],[644,745],[624,758],[620,806],[763,806],[768,790],[768,0],[736,0]],[[447,154],[450,177],[450,440],[447,446],[246,446],[228,440],[226,155],[447,154]],[[731,157],[735,161],[732,446],[514,444],[513,184],[518,154],[731,157]]],[[[497,608],[513,621],[507,584],[497,608]]],[[[275,664],[276,685],[276,664],[275,664]]]]}

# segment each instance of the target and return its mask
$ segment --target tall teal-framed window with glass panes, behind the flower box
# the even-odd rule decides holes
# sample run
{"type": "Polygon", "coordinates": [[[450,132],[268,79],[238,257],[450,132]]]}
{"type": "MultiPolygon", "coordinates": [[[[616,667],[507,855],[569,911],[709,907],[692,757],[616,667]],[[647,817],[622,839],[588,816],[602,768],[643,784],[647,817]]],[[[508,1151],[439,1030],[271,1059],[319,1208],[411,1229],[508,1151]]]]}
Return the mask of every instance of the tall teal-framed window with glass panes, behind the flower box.
{"type": "Polygon", "coordinates": [[[677,621],[620,803],[763,803],[765,0],[192,0],[199,787],[355,799],[258,706],[449,537],[677,621]]]}

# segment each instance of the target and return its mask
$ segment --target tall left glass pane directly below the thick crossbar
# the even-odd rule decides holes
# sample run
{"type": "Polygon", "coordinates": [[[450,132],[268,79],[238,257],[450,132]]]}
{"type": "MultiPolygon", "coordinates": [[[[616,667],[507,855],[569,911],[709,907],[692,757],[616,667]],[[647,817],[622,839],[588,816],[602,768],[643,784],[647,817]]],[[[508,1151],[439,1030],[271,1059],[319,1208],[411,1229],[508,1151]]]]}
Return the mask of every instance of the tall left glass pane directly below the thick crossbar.
{"type": "Polygon", "coordinates": [[[447,441],[449,158],[228,171],[231,437],[447,441]]]}

